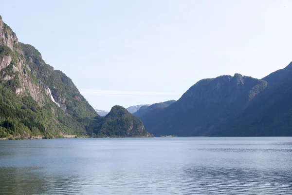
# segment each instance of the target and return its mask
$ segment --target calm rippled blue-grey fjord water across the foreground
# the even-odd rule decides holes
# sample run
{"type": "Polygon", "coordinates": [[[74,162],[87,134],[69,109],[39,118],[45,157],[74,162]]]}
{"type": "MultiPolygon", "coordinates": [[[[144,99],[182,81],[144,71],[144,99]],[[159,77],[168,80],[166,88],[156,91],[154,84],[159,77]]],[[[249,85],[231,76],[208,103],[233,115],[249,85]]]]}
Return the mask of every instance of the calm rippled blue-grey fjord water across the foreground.
{"type": "Polygon", "coordinates": [[[292,137],[0,141],[1,195],[291,195],[292,137]]]}

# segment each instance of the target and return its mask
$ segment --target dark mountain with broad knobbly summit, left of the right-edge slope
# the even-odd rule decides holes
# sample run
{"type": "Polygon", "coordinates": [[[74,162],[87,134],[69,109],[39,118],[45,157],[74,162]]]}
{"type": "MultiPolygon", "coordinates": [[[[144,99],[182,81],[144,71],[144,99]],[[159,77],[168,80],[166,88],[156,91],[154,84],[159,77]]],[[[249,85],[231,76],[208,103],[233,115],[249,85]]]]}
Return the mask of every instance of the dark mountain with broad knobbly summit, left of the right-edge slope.
{"type": "Polygon", "coordinates": [[[266,87],[267,81],[240,74],[203,79],[178,101],[146,113],[141,120],[155,136],[213,135],[220,124],[236,118],[266,87]]]}

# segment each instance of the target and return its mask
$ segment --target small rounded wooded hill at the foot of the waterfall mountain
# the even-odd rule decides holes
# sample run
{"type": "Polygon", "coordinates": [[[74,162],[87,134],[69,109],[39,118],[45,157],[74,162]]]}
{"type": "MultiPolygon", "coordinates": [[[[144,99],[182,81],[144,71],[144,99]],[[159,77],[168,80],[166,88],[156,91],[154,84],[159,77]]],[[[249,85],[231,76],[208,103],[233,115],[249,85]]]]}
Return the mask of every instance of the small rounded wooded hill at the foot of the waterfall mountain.
{"type": "Polygon", "coordinates": [[[106,117],[97,118],[88,128],[97,137],[150,137],[142,121],[122,106],[112,107],[106,117]]]}

